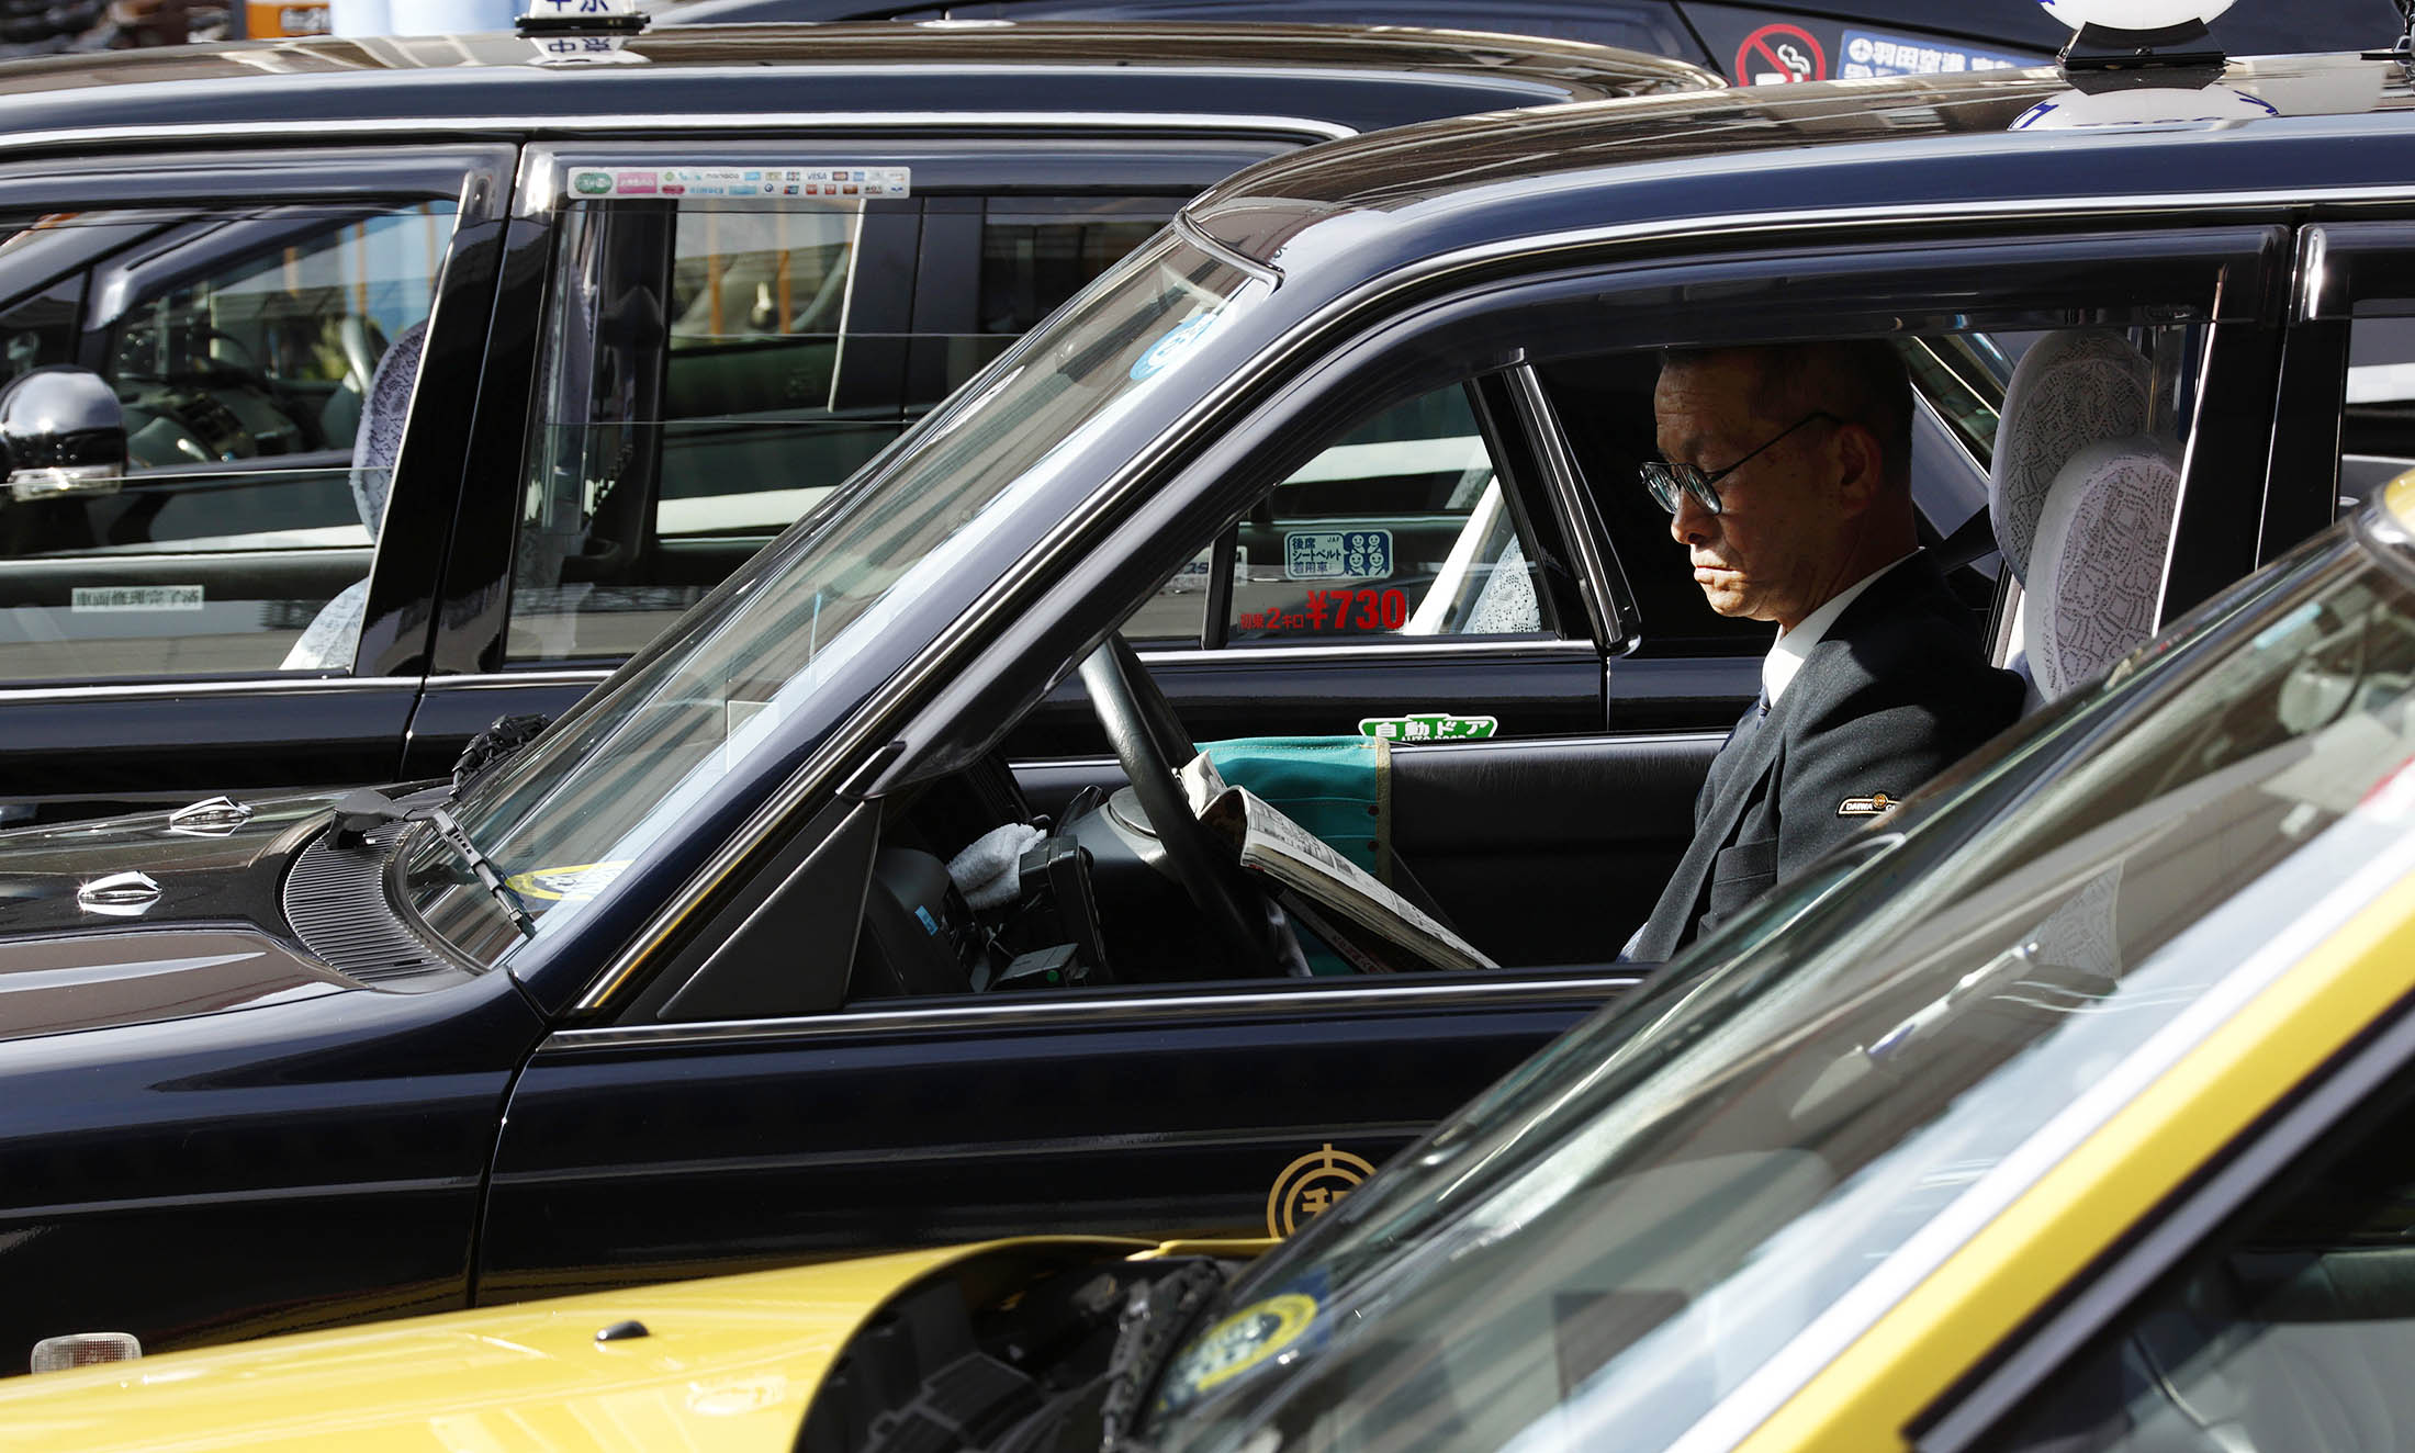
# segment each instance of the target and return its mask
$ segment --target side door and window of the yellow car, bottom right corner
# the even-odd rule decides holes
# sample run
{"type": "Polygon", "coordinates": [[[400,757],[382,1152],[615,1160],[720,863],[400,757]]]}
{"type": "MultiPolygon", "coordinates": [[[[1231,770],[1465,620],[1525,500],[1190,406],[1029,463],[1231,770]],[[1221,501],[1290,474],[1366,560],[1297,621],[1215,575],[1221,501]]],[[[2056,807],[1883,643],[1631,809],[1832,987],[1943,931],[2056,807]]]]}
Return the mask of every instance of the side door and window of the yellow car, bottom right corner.
{"type": "MultiPolygon", "coordinates": [[[[2355,1011],[2355,1009],[2350,1009],[2355,1011]]],[[[1937,1453],[2369,1448],[2415,1422],[2415,1023],[2355,1045],[2210,1142],[2202,1173],[1922,1410],[1937,1453]]]]}

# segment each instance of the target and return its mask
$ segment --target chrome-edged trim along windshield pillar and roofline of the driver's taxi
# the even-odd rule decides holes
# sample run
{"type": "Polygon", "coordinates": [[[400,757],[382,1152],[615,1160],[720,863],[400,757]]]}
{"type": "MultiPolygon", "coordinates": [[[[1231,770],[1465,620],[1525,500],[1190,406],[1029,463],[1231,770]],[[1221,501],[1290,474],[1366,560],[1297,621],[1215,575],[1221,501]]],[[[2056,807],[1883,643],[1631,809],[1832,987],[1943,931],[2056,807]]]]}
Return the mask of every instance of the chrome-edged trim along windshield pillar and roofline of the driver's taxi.
{"type": "MultiPolygon", "coordinates": [[[[2128,217],[2142,224],[2171,224],[2171,222],[2195,222],[2207,224],[2207,210],[2219,208],[2287,208],[2289,212],[2301,212],[2316,205],[2355,205],[2355,203],[2398,203],[2405,205],[2415,200],[2415,186],[2350,186],[2333,188],[2316,196],[2306,191],[2207,191],[2207,193],[2154,193],[2154,196],[2067,196],[2067,198],[2014,198],[2014,200],[1973,200],[1956,205],[1956,220],[1985,220],[1995,224],[2050,224],[2050,222],[2103,222],[2111,217],[2128,217]]],[[[1183,212],[1188,217],[1188,208],[1183,212]]],[[[1840,232],[1884,229],[1884,227],[1922,227],[1937,224],[1937,210],[1925,203],[1905,205],[1850,205],[1850,208],[1794,208],[1780,212],[1732,212],[1732,215],[1686,215],[1686,217],[1654,217],[1647,222],[1604,222],[1594,227],[1577,227],[1565,232],[1548,232],[1541,237],[1519,237],[1483,241],[1473,246],[1461,246],[1451,251],[1435,253],[1420,263],[1386,273],[1384,278],[1369,278],[1357,287],[1340,292],[1309,316],[1294,321],[1282,335],[1273,338],[1265,350],[1258,352],[1251,369],[1236,372],[1210,389],[1195,405],[1183,410],[1179,418],[1169,420],[1169,427],[1159,434],[1152,449],[1137,454],[1128,461],[1113,478],[1101,480],[1092,490],[1089,502],[1082,509],[1070,512],[1058,521],[1053,531],[1041,536],[1038,545],[1012,567],[990,591],[990,599],[976,611],[961,615],[949,630],[930,642],[915,659],[898,666],[898,671],[877,690],[872,698],[857,705],[855,714],[840,724],[831,736],[790,772],[787,782],[773,789],[758,806],[746,816],[746,821],[729,835],[693,874],[688,874],[681,893],[671,895],[669,903],[657,908],[645,924],[628,936],[618,953],[613,953],[587,982],[587,987],[572,999],[572,1014],[592,1014],[611,994],[628,982],[638,968],[645,963],[654,949],[659,949],[688,912],[712,893],[715,886],[739,862],[744,862],[756,845],[761,845],[787,816],[807,801],[814,792],[833,787],[843,780],[843,772],[857,763],[874,736],[894,736],[896,726],[884,722],[889,714],[898,712],[903,702],[913,700],[925,690],[930,678],[964,649],[966,640],[985,635],[995,625],[997,606],[995,601],[1022,594],[1034,579],[1053,579],[1063,572],[1063,555],[1084,536],[1096,529],[1096,521],[1113,512],[1123,495],[1130,492],[1135,478],[1145,478],[1157,468],[1162,456],[1171,444],[1169,439],[1186,439],[1195,430],[1198,420],[1224,408],[1234,396],[1253,389],[1270,372],[1290,367],[1292,357],[1326,335],[1340,319],[1362,314],[1379,307],[1384,299],[1406,292],[1410,287],[1449,285],[1451,278],[1502,263],[1507,258],[1536,258],[1548,261],[1563,253],[1599,253],[1606,249],[1642,249],[1642,246],[1676,246],[1688,239],[1719,239],[1736,241],[1739,237],[1753,239],[1782,239],[1802,237],[1816,246],[1840,246],[1840,232]]],[[[1599,265],[1618,265],[1623,258],[1601,258],[1599,265]]],[[[1570,256],[1570,265],[1577,256],[1570,256]]],[[[891,768],[894,770],[894,768],[891,768]]]]}

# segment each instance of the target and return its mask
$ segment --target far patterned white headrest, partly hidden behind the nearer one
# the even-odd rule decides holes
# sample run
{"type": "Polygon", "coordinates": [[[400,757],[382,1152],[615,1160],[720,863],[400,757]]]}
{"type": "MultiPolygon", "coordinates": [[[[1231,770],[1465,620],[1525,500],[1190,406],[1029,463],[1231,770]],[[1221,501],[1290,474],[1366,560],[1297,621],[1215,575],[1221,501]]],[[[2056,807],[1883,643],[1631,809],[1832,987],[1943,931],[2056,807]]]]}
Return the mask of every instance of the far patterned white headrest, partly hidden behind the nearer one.
{"type": "Polygon", "coordinates": [[[2036,589],[2029,562],[2048,490],[2079,449],[2147,432],[2149,374],[2147,357],[2103,328],[2048,333],[2012,369],[1988,471],[1988,519],[2024,587],[2036,589]]]}

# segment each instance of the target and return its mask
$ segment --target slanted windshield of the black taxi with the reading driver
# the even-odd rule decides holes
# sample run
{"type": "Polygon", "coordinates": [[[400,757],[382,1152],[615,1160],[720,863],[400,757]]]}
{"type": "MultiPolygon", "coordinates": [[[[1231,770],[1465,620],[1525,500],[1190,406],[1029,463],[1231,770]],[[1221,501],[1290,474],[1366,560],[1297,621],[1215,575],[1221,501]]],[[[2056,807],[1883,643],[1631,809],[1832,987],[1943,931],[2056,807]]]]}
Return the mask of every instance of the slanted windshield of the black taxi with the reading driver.
{"type": "MultiPolygon", "coordinates": [[[[1246,287],[1246,273],[1159,234],[698,603],[575,724],[478,780],[454,816],[536,936],[606,893],[724,782],[799,760],[903,661],[896,642],[865,647],[908,608],[978,599],[983,541],[1162,384],[1246,287]]],[[[420,917],[473,958],[495,961],[519,939],[432,833],[413,838],[406,874],[420,917]]]]}

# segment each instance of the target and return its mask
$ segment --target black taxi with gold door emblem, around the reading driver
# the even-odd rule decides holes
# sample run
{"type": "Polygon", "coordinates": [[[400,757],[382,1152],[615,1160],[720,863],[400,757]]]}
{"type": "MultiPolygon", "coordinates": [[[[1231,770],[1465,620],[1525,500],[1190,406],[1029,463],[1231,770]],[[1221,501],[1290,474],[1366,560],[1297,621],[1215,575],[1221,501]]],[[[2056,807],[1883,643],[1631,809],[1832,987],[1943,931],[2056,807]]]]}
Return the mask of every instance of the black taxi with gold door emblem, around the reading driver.
{"type": "Polygon", "coordinates": [[[1719,734],[1398,702],[1367,748],[1393,883],[1333,871],[1278,917],[1183,787],[1227,799],[1171,772],[1212,698],[1152,681],[1244,664],[1278,714],[1302,632],[1343,630],[1369,676],[1727,702],[1751,654],[1657,632],[1683,553],[1616,524],[1657,512],[1659,357],[1884,338],[1934,425],[1920,488],[2004,543],[2004,654],[2087,685],[2323,529],[2345,451],[2405,449],[2374,360],[2415,316],[2408,70],[2161,80],[1642,97],[1261,162],[459,792],[0,838],[7,1337],[1333,1204],[1647,973],[1613,956],[1719,734]],[[1118,644],[1193,611],[1195,654],[1118,644]],[[1113,755],[1019,775],[1077,671],[1113,755]],[[1029,847],[976,905],[952,869],[1002,830],[1029,847]],[[1362,973],[1307,961],[1328,934],[1362,973]]]}

